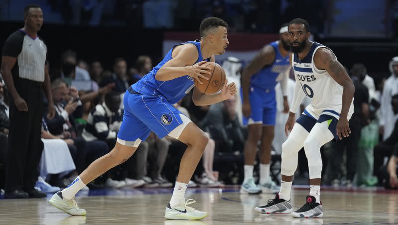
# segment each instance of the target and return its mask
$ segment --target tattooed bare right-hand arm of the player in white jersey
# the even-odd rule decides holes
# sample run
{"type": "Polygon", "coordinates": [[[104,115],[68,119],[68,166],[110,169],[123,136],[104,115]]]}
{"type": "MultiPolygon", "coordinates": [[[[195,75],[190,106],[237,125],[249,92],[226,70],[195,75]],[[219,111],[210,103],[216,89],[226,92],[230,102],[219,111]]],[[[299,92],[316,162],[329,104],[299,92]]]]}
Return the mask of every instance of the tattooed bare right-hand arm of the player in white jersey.
{"type": "Polygon", "coordinates": [[[351,133],[348,125],[348,111],[354,98],[355,87],[351,78],[348,76],[344,67],[337,61],[336,57],[327,48],[320,48],[314,56],[316,68],[326,70],[330,76],[341,86],[343,86],[343,105],[340,112],[340,119],[337,122],[337,135],[348,137],[351,133]]]}

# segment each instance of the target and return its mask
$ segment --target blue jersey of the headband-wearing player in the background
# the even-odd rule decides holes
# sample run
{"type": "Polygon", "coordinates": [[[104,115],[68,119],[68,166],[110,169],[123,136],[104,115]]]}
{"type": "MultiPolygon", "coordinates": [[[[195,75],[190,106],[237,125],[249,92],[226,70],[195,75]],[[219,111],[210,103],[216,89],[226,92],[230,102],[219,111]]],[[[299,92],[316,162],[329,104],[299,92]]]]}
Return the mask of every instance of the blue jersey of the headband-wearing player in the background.
{"type": "Polygon", "coordinates": [[[290,68],[289,54],[283,57],[279,52],[278,43],[279,41],[270,43],[275,50],[275,60],[271,65],[267,65],[250,78],[251,86],[274,91],[275,86],[278,84],[277,77],[279,74],[286,72],[290,68]]]}

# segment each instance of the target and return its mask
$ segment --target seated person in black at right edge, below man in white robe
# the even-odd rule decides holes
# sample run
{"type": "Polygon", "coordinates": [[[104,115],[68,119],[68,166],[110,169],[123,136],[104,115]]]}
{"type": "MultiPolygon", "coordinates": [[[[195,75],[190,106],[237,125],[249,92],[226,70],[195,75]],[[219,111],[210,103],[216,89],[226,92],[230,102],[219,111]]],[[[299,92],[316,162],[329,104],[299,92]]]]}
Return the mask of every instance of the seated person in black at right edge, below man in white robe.
{"type": "Polygon", "coordinates": [[[374,173],[375,175],[378,176],[379,178],[379,185],[383,184],[383,179],[385,176],[383,175],[383,170],[380,170],[380,167],[383,166],[384,164],[384,158],[385,157],[390,157],[395,149],[398,147],[398,94],[394,95],[391,98],[391,103],[392,109],[394,112],[395,116],[395,123],[393,127],[393,131],[391,132],[390,137],[388,137],[386,140],[383,142],[379,143],[378,145],[375,146],[374,148],[374,156],[375,156],[375,161],[374,161],[374,173]],[[395,148],[395,149],[394,149],[395,148]]]}

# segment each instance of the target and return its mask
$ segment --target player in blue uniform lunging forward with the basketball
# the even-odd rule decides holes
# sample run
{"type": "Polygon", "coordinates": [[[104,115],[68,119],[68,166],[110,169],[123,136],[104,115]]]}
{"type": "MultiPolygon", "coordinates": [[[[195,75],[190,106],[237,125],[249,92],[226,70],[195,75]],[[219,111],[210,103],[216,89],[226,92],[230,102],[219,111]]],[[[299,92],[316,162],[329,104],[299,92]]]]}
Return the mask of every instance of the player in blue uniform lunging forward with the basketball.
{"type": "MultiPolygon", "coordinates": [[[[50,203],[72,216],[86,215],[74,201],[75,194],[86,184],[110,168],[126,161],[144,141],[151,130],[159,138],[166,135],[188,145],[180,163],[180,171],[165,218],[172,220],[200,220],[206,212],[195,210],[185,201],[188,183],[208,142],[205,133],[183,113],[173,107],[195,87],[195,80],[202,84],[208,80],[203,74],[211,74],[205,61],[214,62],[214,55],[221,55],[228,46],[227,23],[216,17],[204,19],[200,24],[200,40],[174,46],[162,62],[124,95],[124,116],[117,143],[111,152],[94,161],[66,189],[54,194],[50,203]]],[[[227,82],[225,82],[227,83],[227,82]]],[[[236,93],[234,83],[224,85],[221,92],[204,95],[194,88],[192,97],[196,105],[211,105],[229,99],[236,93]]]]}

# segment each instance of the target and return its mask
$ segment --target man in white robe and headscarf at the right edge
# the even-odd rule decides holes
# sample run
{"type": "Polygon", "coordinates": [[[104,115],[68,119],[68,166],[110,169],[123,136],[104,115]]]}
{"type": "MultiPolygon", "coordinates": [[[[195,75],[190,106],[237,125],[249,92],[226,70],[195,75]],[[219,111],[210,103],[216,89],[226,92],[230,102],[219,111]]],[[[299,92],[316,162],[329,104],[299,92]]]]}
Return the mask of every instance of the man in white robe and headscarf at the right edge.
{"type": "Polygon", "coordinates": [[[381,117],[380,132],[383,140],[386,140],[393,132],[396,118],[391,107],[391,97],[398,93],[398,56],[390,61],[391,76],[384,83],[382,101],[381,101],[381,117]]]}

